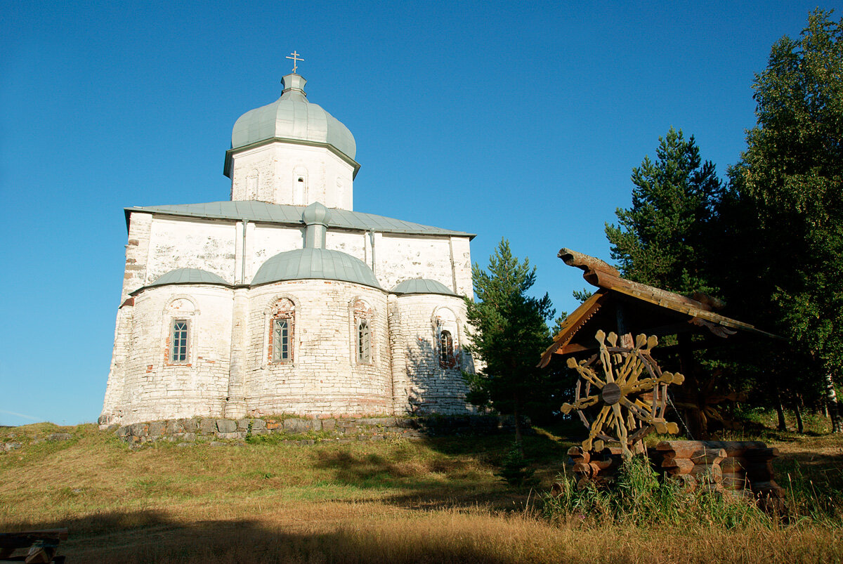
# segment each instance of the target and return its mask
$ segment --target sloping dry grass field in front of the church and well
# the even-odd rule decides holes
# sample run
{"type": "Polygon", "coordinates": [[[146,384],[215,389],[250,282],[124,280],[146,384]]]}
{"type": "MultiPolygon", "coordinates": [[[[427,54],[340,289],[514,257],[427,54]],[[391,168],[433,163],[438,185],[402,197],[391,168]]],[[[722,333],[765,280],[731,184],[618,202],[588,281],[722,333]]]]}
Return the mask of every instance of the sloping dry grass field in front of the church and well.
{"type": "Polygon", "coordinates": [[[538,484],[514,490],[508,437],[129,449],[93,425],[0,427],[23,445],[0,453],[0,531],[67,527],[68,562],[843,560],[843,438],[763,432],[792,518],[726,527],[547,518],[578,433],[526,438],[538,484]]]}

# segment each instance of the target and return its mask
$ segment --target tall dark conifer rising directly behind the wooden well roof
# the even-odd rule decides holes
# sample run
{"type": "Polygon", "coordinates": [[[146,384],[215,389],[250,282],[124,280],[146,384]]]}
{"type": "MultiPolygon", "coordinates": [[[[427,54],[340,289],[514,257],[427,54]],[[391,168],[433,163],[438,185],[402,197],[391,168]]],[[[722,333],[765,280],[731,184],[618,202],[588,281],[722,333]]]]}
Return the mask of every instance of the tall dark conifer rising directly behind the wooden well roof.
{"type": "Polygon", "coordinates": [[[619,225],[606,225],[611,256],[636,282],[711,293],[706,241],[722,183],[693,136],[671,127],[658,142],[656,160],[632,169],[632,207],[615,212],[619,225]]]}

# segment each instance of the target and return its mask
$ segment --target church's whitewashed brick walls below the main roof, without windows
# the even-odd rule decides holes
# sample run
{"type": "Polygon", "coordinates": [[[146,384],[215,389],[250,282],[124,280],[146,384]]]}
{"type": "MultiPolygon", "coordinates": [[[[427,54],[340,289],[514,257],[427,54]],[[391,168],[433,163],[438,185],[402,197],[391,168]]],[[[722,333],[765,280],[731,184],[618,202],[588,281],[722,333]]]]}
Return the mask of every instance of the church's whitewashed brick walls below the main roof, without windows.
{"type": "MultiPolygon", "coordinates": [[[[229,283],[248,283],[271,256],[302,248],[303,228],[248,223],[246,276],[242,277],[241,225],[132,212],[121,293],[125,304],[115,323],[104,421],[223,416],[229,390],[237,389],[229,378],[234,291],[214,286],[151,287],[137,293],[133,305],[130,293],[185,267],[211,271],[229,283]],[[191,359],[195,361],[190,367],[164,362],[171,319],[164,308],[180,294],[190,296],[199,312],[191,327],[191,359]]],[[[328,232],[327,246],[374,264],[384,290],[424,277],[470,295],[467,238],[375,234],[373,249],[367,233],[334,230],[328,232]]],[[[448,303],[462,324],[464,305],[459,298],[391,295],[388,309],[387,293],[347,282],[289,281],[245,291],[248,322],[241,389],[250,413],[373,415],[405,413],[419,406],[464,412],[465,390],[459,372],[438,368],[432,354],[436,346],[433,309],[448,303]],[[281,293],[298,300],[296,354],[302,356],[295,368],[258,363],[268,331],[265,302],[281,293]],[[371,365],[352,362],[349,303],[355,296],[367,300],[375,312],[371,365]]],[[[459,343],[463,342],[460,328],[459,343]]]]}

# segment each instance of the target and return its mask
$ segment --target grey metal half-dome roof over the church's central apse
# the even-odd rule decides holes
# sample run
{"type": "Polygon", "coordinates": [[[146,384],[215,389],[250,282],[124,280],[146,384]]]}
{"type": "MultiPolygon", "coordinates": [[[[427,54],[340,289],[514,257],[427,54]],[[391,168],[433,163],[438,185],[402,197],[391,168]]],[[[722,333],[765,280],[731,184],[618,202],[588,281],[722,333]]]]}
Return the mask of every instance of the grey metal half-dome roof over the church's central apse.
{"type": "Polygon", "coordinates": [[[339,250],[296,249],[271,257],[258,269],[252,286],[283,280],[342,280],[380,288],[366,263],[339,250]]]}

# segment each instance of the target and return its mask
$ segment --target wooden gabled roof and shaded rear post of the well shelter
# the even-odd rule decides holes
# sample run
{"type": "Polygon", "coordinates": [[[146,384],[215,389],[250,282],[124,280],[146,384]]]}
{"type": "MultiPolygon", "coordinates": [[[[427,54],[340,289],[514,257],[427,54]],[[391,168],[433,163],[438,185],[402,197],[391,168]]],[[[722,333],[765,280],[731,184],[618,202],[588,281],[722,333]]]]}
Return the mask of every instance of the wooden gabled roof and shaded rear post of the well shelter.
{"type": "Polygon", "coordinates": [[[598,330],[614,331],[620,336],[620,346],[626,348],[635,346],[634,335],[676,335],[678,343],[660,347],[659,352],[678,352],[679,371],[686,382],[678,399],[694,438],[708,438],[707,420],[716,416],[712,404],[735,396],[717,394],[711,385],[714,380],[697,373],[693,351],[717,345],[740,333],[780,338],[715,313],[722,303],[706,295],[689,298],[631,282],[620,277],[620,272],[604,261],[573,250],[562,249],[558,256],[566,265],[582,269],[583,278],[598,289],[568,315],[553,344],[542,355],[540,366],[547,366],[554,357],[581,359],[597,353],[600,345],[594,341],[594,335],[598,330]],[[694,333],[704,338],[692,340],[694,333]]]}

